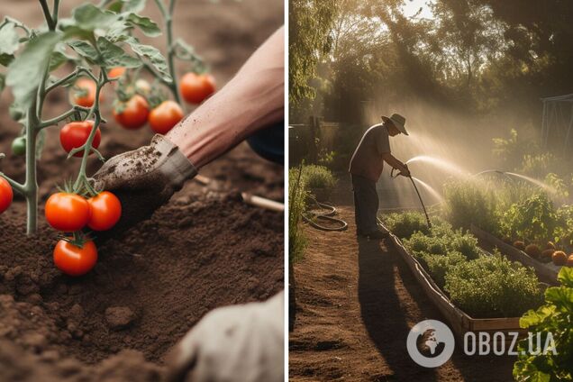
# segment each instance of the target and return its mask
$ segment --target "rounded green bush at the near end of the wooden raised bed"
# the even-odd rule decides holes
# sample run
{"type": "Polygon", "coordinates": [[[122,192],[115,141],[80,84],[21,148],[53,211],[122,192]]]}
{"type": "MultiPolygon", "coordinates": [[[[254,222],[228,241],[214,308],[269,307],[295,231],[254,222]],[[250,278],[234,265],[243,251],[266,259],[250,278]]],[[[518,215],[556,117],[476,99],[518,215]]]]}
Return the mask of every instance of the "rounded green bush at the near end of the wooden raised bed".
{"type": "Polygon", "coordinates": [[[444,278],[451,301],[472,317],[515,317],[542,303],[533,269],[499,253],[460,262],[444,278]]]}

